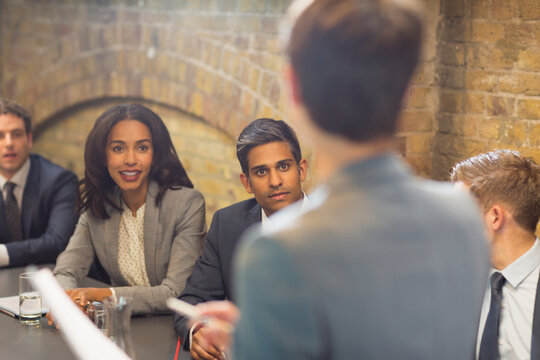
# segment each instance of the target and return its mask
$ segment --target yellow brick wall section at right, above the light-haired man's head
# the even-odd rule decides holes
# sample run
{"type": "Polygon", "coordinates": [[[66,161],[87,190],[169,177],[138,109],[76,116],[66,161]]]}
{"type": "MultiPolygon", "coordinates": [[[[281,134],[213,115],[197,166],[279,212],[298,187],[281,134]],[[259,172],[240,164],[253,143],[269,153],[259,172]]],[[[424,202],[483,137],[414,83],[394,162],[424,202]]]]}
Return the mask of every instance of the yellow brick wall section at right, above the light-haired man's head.
{"type": "Polygon", "coordinates": [[[540,2],[443,0],[434,178],[496,148],[540,162],[540,2]]]}

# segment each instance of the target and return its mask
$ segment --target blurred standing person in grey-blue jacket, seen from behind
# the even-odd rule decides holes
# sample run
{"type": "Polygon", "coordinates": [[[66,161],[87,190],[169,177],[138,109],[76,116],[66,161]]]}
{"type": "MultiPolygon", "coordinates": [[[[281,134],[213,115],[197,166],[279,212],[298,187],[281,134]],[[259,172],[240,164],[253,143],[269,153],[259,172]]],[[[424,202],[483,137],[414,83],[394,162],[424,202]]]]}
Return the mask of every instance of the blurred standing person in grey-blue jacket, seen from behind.
{"type": "Polygon", "coordinates": [[[470,195],[413,177],[393,150],[421,11],[314,0],[289,14],[293,119],[326,182],[308,211],[285,209],[241,241],[240,319],[230,302],[199,309],[237,321],[235,360],[469,358],[488,270],[480,216],[470,195]]]}

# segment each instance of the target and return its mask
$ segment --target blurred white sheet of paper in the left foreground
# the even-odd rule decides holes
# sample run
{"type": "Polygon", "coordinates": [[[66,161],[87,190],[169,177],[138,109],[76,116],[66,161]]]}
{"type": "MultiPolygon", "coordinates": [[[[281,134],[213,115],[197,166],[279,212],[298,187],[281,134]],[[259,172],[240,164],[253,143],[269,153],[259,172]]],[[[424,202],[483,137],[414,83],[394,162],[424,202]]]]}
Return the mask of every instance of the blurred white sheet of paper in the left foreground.
{"type": "Polygon", "coordinates": [[[50,269],[39,270],[32,283],[49,304],[54,320],[77,359],[131,359],[77,308],[54,279],[50,269]]]}

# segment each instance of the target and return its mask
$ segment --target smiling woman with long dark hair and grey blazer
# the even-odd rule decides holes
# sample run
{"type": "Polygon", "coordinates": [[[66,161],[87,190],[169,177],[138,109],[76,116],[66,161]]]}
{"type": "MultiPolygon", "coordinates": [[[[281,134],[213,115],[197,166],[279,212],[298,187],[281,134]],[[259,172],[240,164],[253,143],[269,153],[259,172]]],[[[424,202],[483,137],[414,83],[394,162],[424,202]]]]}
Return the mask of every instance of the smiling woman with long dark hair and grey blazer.
{"type": "Polygon", "coordinates": [[[178,159],[165,124],[150,109],[106,110],[86,140],[81,217],[54,270],[80,306],[129,296],[139,314],[166,310],[184,288],[206,231],[202,195],[178,159]],[[108,289],[77,288],[97,258],[108,289]]]}

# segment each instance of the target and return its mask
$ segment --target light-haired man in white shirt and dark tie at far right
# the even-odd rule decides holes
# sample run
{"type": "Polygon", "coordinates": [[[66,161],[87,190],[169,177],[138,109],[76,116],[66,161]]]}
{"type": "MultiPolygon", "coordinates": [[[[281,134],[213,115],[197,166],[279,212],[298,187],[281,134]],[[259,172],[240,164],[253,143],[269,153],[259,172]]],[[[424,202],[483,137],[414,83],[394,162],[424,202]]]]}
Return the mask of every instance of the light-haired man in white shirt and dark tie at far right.
{"type": "Polygon", "coordinates": [[[458,163],[451,179],[478,200],[492,250],[477,359],[538,359],[540,166],[517,151],[495,150],[458,163]]]}

